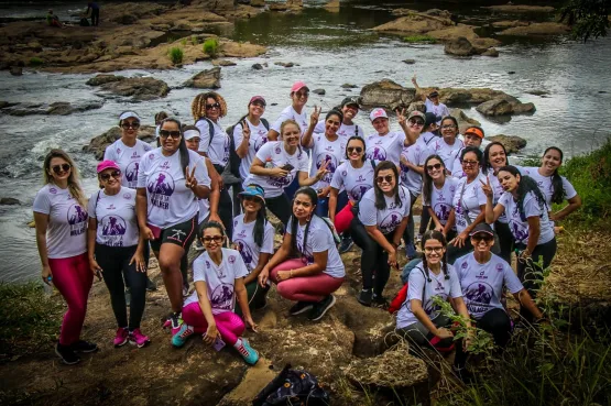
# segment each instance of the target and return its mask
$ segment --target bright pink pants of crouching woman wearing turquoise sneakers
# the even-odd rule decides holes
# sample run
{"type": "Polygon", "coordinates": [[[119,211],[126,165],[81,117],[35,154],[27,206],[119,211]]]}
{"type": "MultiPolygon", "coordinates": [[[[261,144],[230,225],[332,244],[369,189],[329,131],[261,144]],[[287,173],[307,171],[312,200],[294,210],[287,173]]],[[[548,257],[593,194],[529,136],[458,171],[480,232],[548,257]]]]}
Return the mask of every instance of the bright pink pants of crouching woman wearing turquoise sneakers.
{"type": "MultiPolygon", "coordinates": [[[[214,315],[214,317],[220,337],[227,344],[233,345],[238,338],[244,333],[244,322],[233,311],[225,311],[220,315],[214,315]]],[[[198,334],[204,334],[208,330],[208,322],[197,301],[183,307],[183,321],[193,326],[194,331],[198,334]]]]}

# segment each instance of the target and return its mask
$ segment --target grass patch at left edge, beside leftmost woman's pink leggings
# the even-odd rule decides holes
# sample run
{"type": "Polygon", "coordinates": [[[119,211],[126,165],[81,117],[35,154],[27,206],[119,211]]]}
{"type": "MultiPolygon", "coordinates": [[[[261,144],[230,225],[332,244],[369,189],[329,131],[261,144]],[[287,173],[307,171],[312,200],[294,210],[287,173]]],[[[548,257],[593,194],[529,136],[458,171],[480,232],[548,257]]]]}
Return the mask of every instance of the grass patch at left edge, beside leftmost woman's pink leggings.
{"type": "Polygon", "coordinates": [[[62,323],[64,307],[36,283],[0,284],[0,354],[15,356],[48,347],[62,323]]]}

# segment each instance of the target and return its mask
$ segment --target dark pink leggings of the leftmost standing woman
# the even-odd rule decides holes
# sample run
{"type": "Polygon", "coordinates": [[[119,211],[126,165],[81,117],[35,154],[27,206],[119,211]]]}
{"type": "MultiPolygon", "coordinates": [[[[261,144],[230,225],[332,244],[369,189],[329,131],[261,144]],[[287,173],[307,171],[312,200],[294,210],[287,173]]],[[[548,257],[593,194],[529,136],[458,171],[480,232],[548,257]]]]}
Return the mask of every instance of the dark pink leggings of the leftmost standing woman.
{"type": "Polygon", "coordinates": [[[69,345],[80,338],[94,274],[89,271],[87,253],[63,259],[48,259],[48,266],[53,275],[53,284],[68,304],[68,311],[64,315],[62,322],[59,343],[69,345]]]}

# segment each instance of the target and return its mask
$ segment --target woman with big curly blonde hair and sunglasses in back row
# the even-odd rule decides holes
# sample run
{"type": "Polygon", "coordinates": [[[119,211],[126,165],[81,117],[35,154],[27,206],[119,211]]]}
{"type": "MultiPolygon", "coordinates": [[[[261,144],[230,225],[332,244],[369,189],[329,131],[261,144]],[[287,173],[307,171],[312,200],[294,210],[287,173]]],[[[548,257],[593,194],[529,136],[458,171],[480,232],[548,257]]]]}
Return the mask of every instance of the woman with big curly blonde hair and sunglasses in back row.
{"type": "MultiPolygon", "coordinates": [[[[227,116],[225,99],[215,91],[199,94],[190,105],[195,127],[199,129],[201,142],[199,153],[212,162],[217,174],[221,176],[229,163],[229,135],[220,125],[220,119],[227,116]]],[[[220,189],[218,215],[227,234],[231,235],[233,222],[233,206],[229,190],[223,185],[220,189]]]]}

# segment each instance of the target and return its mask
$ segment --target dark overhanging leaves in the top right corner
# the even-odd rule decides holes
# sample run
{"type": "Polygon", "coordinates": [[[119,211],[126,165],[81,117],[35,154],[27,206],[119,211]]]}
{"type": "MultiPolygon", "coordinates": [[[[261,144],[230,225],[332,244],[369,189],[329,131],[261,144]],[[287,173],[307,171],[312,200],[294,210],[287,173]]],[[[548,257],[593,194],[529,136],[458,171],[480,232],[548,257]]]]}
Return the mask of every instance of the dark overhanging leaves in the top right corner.
{"type": "Polygon", "coordinates": [[[611,0],[570,0],[560,10],[560,20],[572,25],[576,39],[588,41],[590,36],[605,36],[611,26],[611,0]]]}

